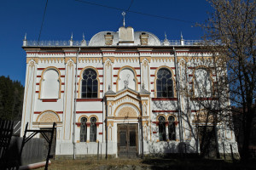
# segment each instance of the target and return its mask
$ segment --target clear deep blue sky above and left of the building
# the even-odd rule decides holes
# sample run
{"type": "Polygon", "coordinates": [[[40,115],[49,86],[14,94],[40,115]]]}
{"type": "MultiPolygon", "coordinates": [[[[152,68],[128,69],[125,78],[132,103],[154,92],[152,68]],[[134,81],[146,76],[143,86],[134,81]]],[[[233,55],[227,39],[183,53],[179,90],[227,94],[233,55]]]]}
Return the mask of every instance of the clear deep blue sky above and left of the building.
{"type": "MultiPolygon", "coordinates": [[[[83,0],[80,0],[83,1],[83,0]]],[[[129,8],[131,0],[84,0],[114,8],[129,8]]],[[[21,48],[27,33],[28,40],[38,40],[46,0],[8,0],[0,5],[0,76],[9,76],[23,85],[26,76],[26,54],[21,48]]],[[[207,20],[212,8],[205,0],[134,0],[131,11],[153,14],[177,20],[166,20],[127,12],[126,26],[135,31],[150,31],[161,40],[179,39],[180,32],[187,40],[201,39],[203,31],[193,22],[207,20]]],[[[85,40],[99,31],[117,31],[122,25],[122,11],[94,6],[75,0],[49,0],[40,40],[85,40]]]]}

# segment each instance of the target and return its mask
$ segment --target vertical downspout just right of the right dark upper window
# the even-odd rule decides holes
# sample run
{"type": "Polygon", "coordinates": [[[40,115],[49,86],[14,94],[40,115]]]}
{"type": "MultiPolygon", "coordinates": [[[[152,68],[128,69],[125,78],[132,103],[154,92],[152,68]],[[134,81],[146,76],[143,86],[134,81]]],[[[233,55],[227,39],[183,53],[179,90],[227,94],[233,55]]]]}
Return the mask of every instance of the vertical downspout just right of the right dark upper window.
{"type": "Polygon", "coordinates": [[[181,116],[181,107],[180,107],[180,95],[179,95],[179,76],[178,76],[178,65],[177,65],[177,54],[176,50],[173,47],[174,52],[174,65],[175,65],[175,73],[176,73],[176,91],[177,91],[177,114],[178,114],[178,132],[179,132],[179,140],[183,142],[183,128],[182,128],[182,116],[181,116]]]}

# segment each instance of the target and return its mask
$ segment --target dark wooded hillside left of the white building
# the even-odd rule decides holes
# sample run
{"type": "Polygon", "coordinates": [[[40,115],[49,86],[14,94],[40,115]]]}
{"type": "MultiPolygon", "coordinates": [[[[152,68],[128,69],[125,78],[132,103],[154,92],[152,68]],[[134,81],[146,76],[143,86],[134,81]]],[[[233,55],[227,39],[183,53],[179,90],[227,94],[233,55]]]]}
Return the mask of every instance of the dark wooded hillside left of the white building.
{"type": "Polygon", "coordinates": [[[19,81],[0,77],[0,118],[21,120],[24,87],[19,81]]]}

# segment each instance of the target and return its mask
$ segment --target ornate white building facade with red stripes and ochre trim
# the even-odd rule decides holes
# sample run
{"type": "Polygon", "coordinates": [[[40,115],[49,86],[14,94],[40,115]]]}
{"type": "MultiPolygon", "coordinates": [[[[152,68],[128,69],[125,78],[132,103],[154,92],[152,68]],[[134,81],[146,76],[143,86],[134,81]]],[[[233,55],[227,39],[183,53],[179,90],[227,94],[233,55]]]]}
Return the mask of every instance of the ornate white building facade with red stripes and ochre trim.
{"type": "MultiPolygon", "coordinates": [[[[206,111],[196,102],[206,100],[218,110],[218,75],[212,54],[200,44],[183,38],[160,42],[131,27],[99,32],[90,42],[25,39],[20,135],[26,122],[34,129],[56,122],[56,156],[96,155],[98,143],[102,155],[178,153],[180,148],[200,153],[198,127],[205,126],[206,111]]],[[[223,126],[217,125],[218,151],[226,145],[229,152],[233,144],[237,152],[234,133],[223,126]]]]}

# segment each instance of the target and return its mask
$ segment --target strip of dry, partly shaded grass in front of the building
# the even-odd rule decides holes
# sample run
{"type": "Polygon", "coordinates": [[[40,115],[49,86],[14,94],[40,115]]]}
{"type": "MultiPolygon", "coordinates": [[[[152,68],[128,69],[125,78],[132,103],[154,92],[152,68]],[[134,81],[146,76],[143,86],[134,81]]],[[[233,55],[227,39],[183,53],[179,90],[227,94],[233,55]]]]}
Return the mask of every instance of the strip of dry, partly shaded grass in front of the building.
{"type": "MultiPolygon", "coordinates": [[[[49,169],[92,169],[92,170],[116,170],[116,169],[139,169],[139,170],[159,170],[159,169],[184,169],[184,170],[254,170],[256,161],[250,161],[246,164],[241,162],[232,163],[224,160],[205,160],[205,159],[164,159],[164,158],[146,158],[142,159],[119,159],[99,160],[88,158],[84,160],[57,160],[52,161],[49,169]]],[[[44,169],[39,168],[39,169],[44,169]]]]}

